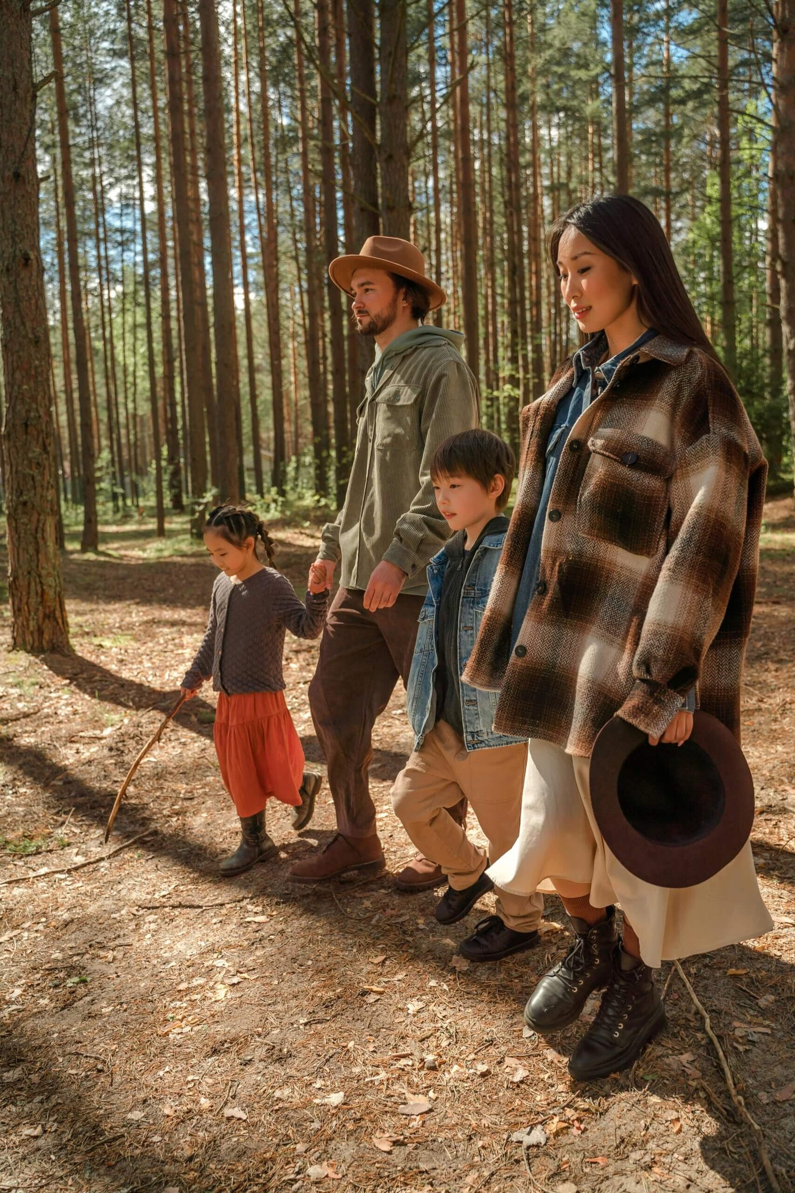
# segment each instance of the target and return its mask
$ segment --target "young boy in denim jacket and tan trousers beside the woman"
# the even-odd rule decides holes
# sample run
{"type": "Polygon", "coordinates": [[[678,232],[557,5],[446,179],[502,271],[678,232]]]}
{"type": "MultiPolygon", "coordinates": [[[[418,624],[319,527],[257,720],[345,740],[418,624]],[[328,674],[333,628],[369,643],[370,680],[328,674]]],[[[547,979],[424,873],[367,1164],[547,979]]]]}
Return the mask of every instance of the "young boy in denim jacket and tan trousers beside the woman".
{"type": "MultiPolygon", "coordinates": [[[[492,729],[496,692],[462,684],[508,530],[501,511],[514,480],[514,453],[490,431],[452,435],[430,476],[436,505],[455,533],[428,565],[429,592],[409,676],[414,753],[392,789],[392,806],[418,849],[437,863],[449,886],[436,907],[440,923],[456,923],[492,890],[486,866],[518,834],[527,742],[492,729]],[[448,809],[470,801],[489,853],[473,845],[448,809]]],[[[459,952],[493,962],[532,948],[544,898],[497,895],[497,915],[482,920],[459,952]]]]}

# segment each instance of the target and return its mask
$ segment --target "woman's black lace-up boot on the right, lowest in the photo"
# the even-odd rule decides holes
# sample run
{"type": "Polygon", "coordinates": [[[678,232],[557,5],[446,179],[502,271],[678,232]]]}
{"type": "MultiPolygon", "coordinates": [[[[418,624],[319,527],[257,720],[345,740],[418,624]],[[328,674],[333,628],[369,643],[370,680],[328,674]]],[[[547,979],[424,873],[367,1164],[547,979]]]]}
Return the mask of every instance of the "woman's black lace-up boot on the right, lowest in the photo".
{"type": "Polygon", "coordinates": [[[664,1027],[665,1008],[653,970],[617,946],[610,984],[596,1019],[569,1058],[569,1071],[576,1081],[595,1081],[629,1069],[664,1027]]]}

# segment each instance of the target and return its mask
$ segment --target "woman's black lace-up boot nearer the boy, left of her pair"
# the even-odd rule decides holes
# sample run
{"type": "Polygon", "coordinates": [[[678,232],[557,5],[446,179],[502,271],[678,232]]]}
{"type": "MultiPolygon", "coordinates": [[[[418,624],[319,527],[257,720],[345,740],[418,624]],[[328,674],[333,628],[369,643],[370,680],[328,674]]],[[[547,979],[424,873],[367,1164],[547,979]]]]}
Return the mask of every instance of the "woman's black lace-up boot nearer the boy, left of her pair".
{"type": "Polygon", "coordinates": [[[566,956],[541,978],[524,1008],[524,1022],[536,1032],[559,1032],[579,1019],[592,990],[610,981],[613,951],[619,940],[615,908],[605,908],[598,923],[577,916],[569,922],[574,944],[566,956]]]}

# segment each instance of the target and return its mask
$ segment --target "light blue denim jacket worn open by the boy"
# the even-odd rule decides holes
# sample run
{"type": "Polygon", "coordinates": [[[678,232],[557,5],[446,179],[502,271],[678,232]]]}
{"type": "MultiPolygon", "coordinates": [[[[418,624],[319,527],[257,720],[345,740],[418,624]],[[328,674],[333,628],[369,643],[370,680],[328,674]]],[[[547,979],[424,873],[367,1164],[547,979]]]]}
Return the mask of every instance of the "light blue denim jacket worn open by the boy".
{"type": "MultiPolygon", "coordinates": [[[[462,674],[472,654],[504,539],[504,533],[486,534],[470,563],[458,616],[459,675],[462,674]]],[[[411,660],[408,692],[415,750],[421,748],[426,734],[433,729],[436,721],[434,682],[437,662],[436,617],[448,560],[448,555],[442,550],[428,564],[428,595],[420,611],[420,629],[411,660]]],[[[493,731],[498,697],[498,692],[482,692],[461,682],[461,721],[467,749],[492,749],[496,746],[513,746],[526,741],[523,737],[505,737],[493,731]]]]}

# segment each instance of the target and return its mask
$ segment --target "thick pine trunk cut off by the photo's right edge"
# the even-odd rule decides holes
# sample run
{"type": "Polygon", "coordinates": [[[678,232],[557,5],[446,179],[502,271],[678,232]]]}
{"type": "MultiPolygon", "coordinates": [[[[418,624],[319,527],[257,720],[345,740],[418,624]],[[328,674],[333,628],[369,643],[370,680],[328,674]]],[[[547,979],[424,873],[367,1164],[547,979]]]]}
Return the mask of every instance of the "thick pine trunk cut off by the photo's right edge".
{"type": "Polygon", "coordinates": [[[774,8],[775,169],[778,200],[778,278],[789,426],[795,449],[795,0],[774,8]]]}

